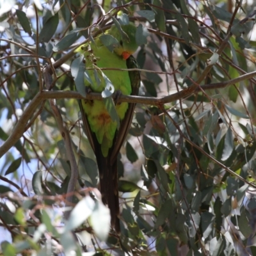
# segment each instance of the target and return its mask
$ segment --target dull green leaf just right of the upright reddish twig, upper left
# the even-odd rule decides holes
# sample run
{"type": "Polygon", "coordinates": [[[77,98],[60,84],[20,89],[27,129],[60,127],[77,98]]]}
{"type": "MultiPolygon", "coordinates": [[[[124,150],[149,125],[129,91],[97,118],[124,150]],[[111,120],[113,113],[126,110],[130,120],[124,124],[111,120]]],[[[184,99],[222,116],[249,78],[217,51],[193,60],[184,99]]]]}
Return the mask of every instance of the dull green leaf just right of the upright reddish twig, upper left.
{"type": "Polygon", "coordinates": [[[59,14],[56,13],[54,16],[49,18],[39,34],[39,42],[49,42],[54,35],[59,24],[59,14]]]}

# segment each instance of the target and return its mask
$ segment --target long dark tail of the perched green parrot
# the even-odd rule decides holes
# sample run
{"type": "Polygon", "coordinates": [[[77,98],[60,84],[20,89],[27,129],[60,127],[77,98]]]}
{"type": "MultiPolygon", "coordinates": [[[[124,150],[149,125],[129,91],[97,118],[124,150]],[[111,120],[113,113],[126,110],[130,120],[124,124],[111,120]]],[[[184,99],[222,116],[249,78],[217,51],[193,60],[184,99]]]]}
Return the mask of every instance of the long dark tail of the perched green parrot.
{"type": "Polygon", "coordinates": [[[111,164],[110,157],[104,157],[100,148],[95,154],[99,168],[102,202],[109,207],[111,227],[120,233],[117,161],[115,159],[111,164]]]}

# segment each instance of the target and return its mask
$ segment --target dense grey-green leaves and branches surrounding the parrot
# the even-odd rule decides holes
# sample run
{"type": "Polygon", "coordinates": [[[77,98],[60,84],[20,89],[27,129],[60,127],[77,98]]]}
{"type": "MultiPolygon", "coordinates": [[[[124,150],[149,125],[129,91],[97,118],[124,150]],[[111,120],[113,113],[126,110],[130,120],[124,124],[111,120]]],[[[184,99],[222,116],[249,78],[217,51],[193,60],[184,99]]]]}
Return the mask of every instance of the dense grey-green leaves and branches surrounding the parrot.
{"type": "Polygon", "coordinates": [[[252,2],[0,1],[3,255],[256,255],[252,2]],[[101,95],[75,92],[75,49],[129,20],[141,88],[119,99],[137,106],[116,234],[77,103],[101,95]]]}

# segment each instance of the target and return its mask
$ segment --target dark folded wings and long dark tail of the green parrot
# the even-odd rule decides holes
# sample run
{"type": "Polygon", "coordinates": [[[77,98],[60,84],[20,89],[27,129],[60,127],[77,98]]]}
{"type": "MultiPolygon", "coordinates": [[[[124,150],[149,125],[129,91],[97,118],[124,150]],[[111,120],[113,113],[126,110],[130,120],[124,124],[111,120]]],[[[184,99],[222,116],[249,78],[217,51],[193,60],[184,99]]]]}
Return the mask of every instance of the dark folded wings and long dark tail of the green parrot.
{"type": "MultiPolygon", "coordinates": [[[[133,56],[130,56],[127,61],[127,68],[138,68],[138,63],[133,56]]],[[[132,86],[131,95],[138,95],[140,88],[140,72],[137,70],[129,71],[129,78],[132,86]]],[[[124,119],[121,121],[120,129],[116,131],[115,138],[113,139],[113,145],[109,150],[108,157],[102,155],[100,143],[97,140],[95,133],[92,132],[88,118],[84,115],[83,105],[79,100],[79,106],[82,113],[82,119],[84,124],[84,130],[87,138],[93,148],[96,156],[97,165],[100,175],[100,192],[102,193],[102,202],[107,204],[111,212],[111,225],[115,227],[116,232],[120,231],[119,223],[119,200],[118,200],[118,172],[117,172],[117,156],[124,143],[124,140],[129,132],[132,118],[134,115],[134,109],[136,104],[129,103],[129,107],[125,113],[124,119]]]]}

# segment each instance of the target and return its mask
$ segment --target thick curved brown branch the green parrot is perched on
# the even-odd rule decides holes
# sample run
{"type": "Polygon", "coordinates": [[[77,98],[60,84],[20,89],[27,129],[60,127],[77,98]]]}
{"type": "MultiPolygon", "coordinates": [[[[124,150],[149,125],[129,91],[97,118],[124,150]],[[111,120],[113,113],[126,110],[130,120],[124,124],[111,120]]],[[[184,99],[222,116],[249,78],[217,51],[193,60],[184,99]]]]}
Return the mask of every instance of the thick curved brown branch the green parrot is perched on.
{"type": "MultiPolygon", "coordinates": [[[[213,84],[204,84],[202,86],[193,84],[180,92],[173,93],[164,97],[141,97],[141,96],[130,96],[130,95],[120,95],[118,102],[130,102],[130,103],[140,103],[145,105],[154,105],[162,106],[163,104],[173,102],[175,100],[184,99],[193,93],[198,92],[199,90],[212,90],[217,88],[225,88],[228,85],[236,84],[247,79],[251,79],[256,76],[256,71],[239,76],[237,78],[231,79],[229,81],[213,84]]],[[[84,98],[78,92],[72,91],[47,91],[42,90],[38,92],[33,100],[31,100],[28,107],[25,109],[24,113],[20,116],[19,121],[15,125],[12,134],[0,147],[0,158],[20,139],[24,131],[26,131],[26,125],[28,124],[29,119],[36,111],[36,108],[46,99],[88,99],[88,100],[100,100],[102,96],[100,93],[89,93],[86,98],[84,98]]]]}

